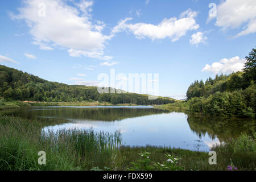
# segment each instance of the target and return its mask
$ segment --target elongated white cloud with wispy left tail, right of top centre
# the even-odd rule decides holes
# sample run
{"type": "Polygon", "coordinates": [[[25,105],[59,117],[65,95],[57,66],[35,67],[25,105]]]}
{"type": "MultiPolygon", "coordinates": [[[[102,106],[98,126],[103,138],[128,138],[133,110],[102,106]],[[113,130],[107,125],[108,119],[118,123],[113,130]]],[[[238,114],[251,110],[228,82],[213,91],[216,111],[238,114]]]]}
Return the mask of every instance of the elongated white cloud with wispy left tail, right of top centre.
{"type": "Polygon", "coordinates": [[[195,17],[196,11],[188,9],[180,14],[179,19],[176,17],[170,19],[163,19],[161,23],[147,24],[147,23],[127,23],[132,18],[126,18],[121,20],[117,26],[112,30],[112,35],[121,31],[133,32],[137,39],[150,38],[164,39],[170,38],[172,42],[179,40],[181,36],[184,36],[189,30],[196,30],[199,28],[199,24],[196,24],[195,17]]]}

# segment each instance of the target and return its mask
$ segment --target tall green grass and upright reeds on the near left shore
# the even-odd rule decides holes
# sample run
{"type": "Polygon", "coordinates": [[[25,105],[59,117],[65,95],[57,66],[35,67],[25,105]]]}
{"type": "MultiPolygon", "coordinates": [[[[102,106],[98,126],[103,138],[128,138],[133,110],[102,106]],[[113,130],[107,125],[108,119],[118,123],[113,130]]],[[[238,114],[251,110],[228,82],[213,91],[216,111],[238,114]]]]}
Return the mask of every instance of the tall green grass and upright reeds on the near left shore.
{"type": "Polygon", "coordinates": [[[89,170],[110,166],[121,134],[88,130],[43,131],[40,123],[0,119],[0,170],[89,170]],[[46,165],[38,152],[46,152],[46,165]]]}

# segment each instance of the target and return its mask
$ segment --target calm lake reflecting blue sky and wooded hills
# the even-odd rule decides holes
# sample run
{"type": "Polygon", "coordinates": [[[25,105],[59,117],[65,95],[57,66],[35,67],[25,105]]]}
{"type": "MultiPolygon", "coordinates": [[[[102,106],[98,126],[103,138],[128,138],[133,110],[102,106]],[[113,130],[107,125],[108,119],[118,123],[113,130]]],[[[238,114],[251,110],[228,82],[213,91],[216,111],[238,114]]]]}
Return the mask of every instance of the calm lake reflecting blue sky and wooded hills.
{"type": "Polygon", "coordinates": [[[129,146],[171,146],[209,151],[241,133],[255,129],[253,119],[193,117],[155,109],[151,106],[33,106],[6,110],[14,115],[43,123],[43,130],[88,129],[122,134],[129,146]]]}

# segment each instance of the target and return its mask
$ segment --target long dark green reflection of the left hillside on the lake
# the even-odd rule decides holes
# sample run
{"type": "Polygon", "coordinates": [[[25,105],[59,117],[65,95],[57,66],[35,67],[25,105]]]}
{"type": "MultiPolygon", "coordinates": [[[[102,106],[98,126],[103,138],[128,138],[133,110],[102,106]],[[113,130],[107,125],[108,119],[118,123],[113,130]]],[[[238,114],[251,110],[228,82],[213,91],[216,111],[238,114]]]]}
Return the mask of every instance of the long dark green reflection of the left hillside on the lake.
{"type": "Polygon", "coordinates": [[[92,121],[120,121],[125,118],[142,117],[144,115],[169,113],[160,109],[134,108],[73,108],[45,107],[32,110],[13,110],[7,115],[15,115],[26,119],[37,119],[47,124],[56,125],[70,122],[67,119],[87,119],[92,121]]]}

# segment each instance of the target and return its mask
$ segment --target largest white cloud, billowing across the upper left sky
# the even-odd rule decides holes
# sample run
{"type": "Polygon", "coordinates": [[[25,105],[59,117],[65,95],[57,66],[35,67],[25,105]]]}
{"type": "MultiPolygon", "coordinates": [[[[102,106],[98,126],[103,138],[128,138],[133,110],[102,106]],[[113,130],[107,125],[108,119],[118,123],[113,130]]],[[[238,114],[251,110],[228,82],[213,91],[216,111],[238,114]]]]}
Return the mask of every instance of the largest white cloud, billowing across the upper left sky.
{"type": "Polygon", "coordinates": [[[71,56],[108,60],[111,57],[104,55],[104,44],[111,37],[101,33],[104,23],[90,21],[92,4],[92,1],[81,1],[73,7],[67,5],[67,1],[24,0],[23,7],[18,9],[19,14],[11,14],[11,18],[26,22],[34,44],[40,49],[51,50],[55,44],[67,48],[71,56]],[[46,16],[39,16],[38,5],[42,3],[46,5],[46,16]]]}

